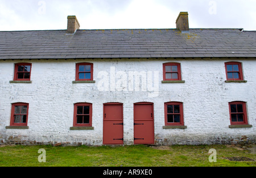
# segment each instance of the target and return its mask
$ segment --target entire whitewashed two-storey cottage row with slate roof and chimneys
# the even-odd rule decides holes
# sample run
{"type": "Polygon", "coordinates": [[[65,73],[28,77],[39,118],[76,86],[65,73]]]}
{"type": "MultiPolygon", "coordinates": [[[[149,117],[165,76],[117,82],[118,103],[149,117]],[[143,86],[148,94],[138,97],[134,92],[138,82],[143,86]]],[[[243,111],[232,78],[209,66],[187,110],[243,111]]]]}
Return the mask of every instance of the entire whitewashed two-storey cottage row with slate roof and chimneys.
{"type": "Polygon", "coordinates": [[[255,32],[189,29],[187,15],[0,32],[1,144],[255,143],[255,32]]]}

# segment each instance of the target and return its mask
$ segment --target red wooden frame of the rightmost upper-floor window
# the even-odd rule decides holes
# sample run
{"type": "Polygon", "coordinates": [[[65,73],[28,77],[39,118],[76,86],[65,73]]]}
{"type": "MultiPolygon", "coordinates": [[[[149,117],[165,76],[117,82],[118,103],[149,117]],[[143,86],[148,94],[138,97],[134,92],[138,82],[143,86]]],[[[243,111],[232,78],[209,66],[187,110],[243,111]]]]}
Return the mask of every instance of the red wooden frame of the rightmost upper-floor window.
{"type": "Polygon", "coordinates": [[[243,72],[242,72],[242,64],[239,62],[228,62],[225,63],[226,69],[226,80],[243,80],[243,72]],[[228,65],[232,65],[232,70],[228,69],[228,65]],[[238,65],[238,67],[234,67],[234,65],[238,65]],[[234,77],[234,74],[238,73],[238,78],[234,77]],[[229,77],[232,74],[232,78],[229,77]]]}

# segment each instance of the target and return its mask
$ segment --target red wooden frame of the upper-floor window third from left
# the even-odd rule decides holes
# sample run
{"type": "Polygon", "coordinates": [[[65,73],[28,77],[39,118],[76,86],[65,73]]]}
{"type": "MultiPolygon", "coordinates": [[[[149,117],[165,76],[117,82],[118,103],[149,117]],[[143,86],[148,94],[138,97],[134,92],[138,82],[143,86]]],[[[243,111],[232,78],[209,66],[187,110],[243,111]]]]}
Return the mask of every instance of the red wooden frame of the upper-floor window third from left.
{"type": "Polygon", "coordinates": [[[163,64],[163,80],[181,80],[180,64],[179,63],[165,63],[165,64],[163,64]],[[168,67],[168,66],[171,67],[170,70],[166,70],[166,67],[168,67]],[[167,73],[171,74],[171,78],[166,78],[167,73]],[[174,77],[172,77],[173,75],[174,75],[174,77]],[[175,77],[176,75],[177,75],[177,78],[175,77]]]}

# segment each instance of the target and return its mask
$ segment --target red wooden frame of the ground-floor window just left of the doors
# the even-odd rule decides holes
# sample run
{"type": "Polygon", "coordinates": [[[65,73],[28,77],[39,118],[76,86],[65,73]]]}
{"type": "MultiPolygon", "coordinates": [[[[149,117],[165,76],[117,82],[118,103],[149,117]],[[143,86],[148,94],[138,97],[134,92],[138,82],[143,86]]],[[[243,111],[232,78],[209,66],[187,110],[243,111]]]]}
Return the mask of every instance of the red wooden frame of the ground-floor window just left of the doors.
{"type": "Polygon", "coordinates": [[[86,103],[86,102],[74,104],[73,127],[92,127],[92,104],[86,103]],[[89,113],[85,110],[85,107],[88,107],[88,106],[89,106],[89,113]],[[81,107],[82,107],[82,111],[81,111],[81,107]],[[89,122],[86,122],[85,119],[88,119],[88,118],[89,118],[89,122]],[[82,119],[82,122],[81,122],[81,119],[82,119]]]}

